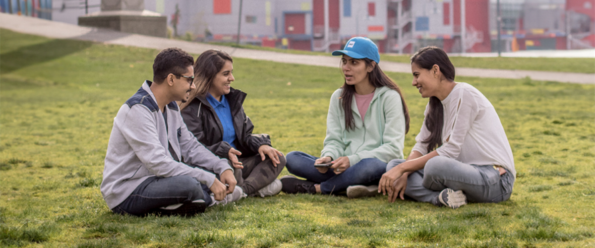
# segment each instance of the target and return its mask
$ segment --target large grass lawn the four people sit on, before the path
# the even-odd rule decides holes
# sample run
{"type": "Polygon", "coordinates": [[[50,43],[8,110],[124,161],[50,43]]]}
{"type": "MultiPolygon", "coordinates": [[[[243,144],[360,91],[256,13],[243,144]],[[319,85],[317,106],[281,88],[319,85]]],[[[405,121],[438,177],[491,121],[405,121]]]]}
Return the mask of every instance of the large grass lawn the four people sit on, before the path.
{"type": "MultiPolygon", "coordinates": [[[[157,53],[0,30],[0,246],[595,245],[595,86],[530,79],[457,77],[490,99],[508,134],[518,175],[506,202],[454,210],[281,193],[192,218],[112,214],[99,191],[112,121],[152,78],[157,53]]],[[[338,68],[236,58],[234,76],[257,133],[284,153],[320,153],[328,101],[342,84],[338,68]]],[[[408,154],[427,99],[411,75],[389,76],[411,112],[408,154]]]]}

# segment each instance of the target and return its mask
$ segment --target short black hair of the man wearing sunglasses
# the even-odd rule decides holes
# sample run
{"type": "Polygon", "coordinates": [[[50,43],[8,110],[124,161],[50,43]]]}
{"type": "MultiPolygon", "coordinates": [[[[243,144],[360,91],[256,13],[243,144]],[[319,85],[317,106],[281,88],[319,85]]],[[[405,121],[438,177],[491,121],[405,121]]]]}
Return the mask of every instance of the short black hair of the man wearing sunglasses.
{"type": "Polygon", "coordinates": [[[153,62],[153,81],[161,83],[170,73],[181,75],[186,68],[194,64],[192,55],[180,48],[165,48],[155,57],[153,62]]]}

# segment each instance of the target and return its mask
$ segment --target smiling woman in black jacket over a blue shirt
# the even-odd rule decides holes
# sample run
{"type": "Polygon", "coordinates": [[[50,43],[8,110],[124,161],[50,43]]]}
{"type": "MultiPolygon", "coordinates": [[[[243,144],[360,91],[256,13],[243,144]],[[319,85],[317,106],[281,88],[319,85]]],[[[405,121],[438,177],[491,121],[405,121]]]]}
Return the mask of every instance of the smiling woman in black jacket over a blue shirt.
{"type": "Polygon", "coordinates": [[[230,87],[233,59],[211,49],[196,59],[196,89],[190,101],[181,103],[188,130],[215,155],[226,158],[235,169],[237,186],[248,196],[272,196],[281,190],[277,176],[285,157],[271,146],[268,134],[252,134],[254,126],[242,103],[246,93],[230,87]]]}

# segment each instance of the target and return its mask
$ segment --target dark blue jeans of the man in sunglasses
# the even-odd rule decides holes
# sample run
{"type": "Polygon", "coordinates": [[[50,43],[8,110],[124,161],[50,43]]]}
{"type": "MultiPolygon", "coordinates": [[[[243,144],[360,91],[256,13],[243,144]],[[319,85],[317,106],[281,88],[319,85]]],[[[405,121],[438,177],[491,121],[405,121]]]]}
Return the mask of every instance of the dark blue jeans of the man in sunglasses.
{"type": "Polygon", "coordinates": [[[112,211],[116,214],[142,216],[164,206],[190,203],[198,199],[205,200],[208,206],[211,205],[210,192],[206,185],[189,175],[149,177],[112,211]]]}

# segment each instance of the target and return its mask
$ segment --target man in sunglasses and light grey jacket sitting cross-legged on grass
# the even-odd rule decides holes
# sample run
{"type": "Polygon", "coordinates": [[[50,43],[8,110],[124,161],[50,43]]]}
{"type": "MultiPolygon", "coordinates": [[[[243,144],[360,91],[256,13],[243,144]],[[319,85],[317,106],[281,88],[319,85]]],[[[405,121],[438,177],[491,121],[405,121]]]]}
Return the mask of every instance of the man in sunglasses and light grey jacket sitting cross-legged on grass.
{"type": "Polygon", "coordinates": [[[187,101],[195,88],[192,64],[181,49],[159,52],[153,82],[146,80],[114,118],[101,183],[113,212],[193,215],[245,196],[226,159],[201,145],[180,116],[176,101],[187,101]]]}

